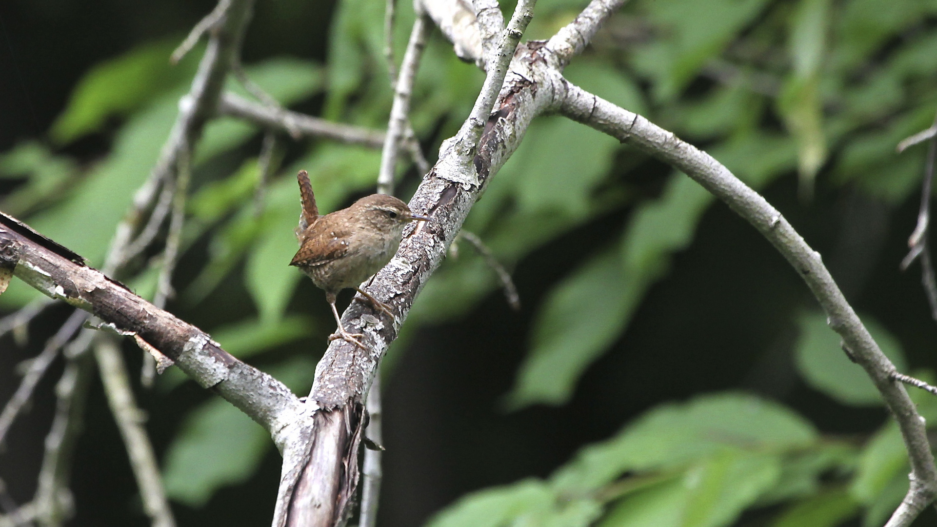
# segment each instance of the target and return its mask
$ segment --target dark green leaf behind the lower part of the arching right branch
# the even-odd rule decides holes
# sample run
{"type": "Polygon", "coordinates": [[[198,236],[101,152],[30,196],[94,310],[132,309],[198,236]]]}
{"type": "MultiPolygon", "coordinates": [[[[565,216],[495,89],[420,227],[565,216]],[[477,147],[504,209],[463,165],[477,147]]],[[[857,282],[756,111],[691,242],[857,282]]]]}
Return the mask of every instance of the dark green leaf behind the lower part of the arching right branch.
{"type": "MultiPolygon", "coordinates": [[[[900,343],[869,316],[862,317],[872,338],[899,369],[905,370],[900,343]]],[[[879,406],[882,397],[865,370],[849,360],[840,348],[840,336],[826,325],[822,313],[809,312],[797,319],[800,338],[796,344],[797,369],[813,388],[843,404],[879,406]]]]}

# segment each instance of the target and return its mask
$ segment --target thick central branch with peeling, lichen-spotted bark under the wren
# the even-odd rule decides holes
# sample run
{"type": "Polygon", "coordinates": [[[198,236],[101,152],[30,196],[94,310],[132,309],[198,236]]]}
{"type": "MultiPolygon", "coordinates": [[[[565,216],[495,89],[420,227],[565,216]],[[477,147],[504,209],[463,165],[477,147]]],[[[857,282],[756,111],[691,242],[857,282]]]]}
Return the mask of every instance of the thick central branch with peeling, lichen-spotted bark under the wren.
{"type": "MultiPolygon", "coordinates": [[[[399,316],[386,320],[386,315],[372,311],[369,305],[352,303],[344,313],[342,324],[346,327],[350,324],[357,332],[364,333],[367,349],[346,346],[344,340],[335,340],[320,360],[308,398],[320,408],[314,415],[316,428],[309,431],[315,439],[302,456],[294,456],[302,464],[290,464],[285,453],[275,527],[332,527],[341,524],[350,512],[348,504],[358,481],[356,460],[362,435],[364,395],[380,357],[396,338],[413,299],[458,233],[489,175],[496,173],[513,153],[530,120],[552,99],[550,80],[553,78],[544,76],[545,61],[537,54],[541,46],[524,47],[513,53],[529,20],[531,6],[532,2],[519,4],[510,29],[501,40],[499,56],[506,55],[508,60],[514,56],[511,71],[505,76],[507,60],[501,61],[503,68],[489,68],[486,84],[495,79],[501,90],[495,113],[491,113],[490,105],[484,109],[490,92],[483,91],[479,96],[482,102],[476,104],[476,112],[482,115],[482,123],[487,123],[480,130],[483,131],[481,142],[477,148],[471,144],[468,149],[443,149],[439,163],[426,175],[410,201],[412,210],[432,219],[419,231],[409,232],[394,260],[379,271],[369,288],[369,293],[388,303],[399,316]],[[543,86],[537,84],[540,78],[547,80],[543,86]],[[502,83],[498,79],[505,81],[502,83]],[[444,171],[442,167],[447,163],[450,168],[444,171]]],[[[493,98],[490,100],[493,102],[493,98]]],[[[466,140],[469,136],[458,137],[466,140]]]]}

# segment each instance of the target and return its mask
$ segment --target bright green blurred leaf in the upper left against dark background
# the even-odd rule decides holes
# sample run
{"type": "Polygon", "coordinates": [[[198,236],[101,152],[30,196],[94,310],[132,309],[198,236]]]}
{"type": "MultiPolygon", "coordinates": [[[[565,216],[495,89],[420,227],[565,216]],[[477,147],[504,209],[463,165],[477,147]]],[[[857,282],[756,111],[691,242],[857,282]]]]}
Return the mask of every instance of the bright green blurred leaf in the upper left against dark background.
{"type": "Polygon", "coordinates": [[[97,131],[109,116],[127,115],[190,77],[201,53],[189,53],[172,67],[170,54],[176,45],[178,38],[149,42],[91,68],[52,124],[52,140],[70,143],[97,131]]]}

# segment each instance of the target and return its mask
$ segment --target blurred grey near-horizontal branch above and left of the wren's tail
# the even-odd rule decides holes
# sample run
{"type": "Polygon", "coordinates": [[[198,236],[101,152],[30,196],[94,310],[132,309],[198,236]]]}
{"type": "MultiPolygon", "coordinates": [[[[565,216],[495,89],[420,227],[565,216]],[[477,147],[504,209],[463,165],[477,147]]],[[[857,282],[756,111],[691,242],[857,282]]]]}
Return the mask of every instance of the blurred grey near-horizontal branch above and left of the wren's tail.
{"type": "Polygon", "coordinates": [[[379,130],[333,123],[305,113],[272,108],[231,93],[221,97],[218,113],[287,133],[298,130],[306,137],[323,137],[341,143],[364,144],[372,148],[380,148],[384,143],[384,132],[379,130]]]}

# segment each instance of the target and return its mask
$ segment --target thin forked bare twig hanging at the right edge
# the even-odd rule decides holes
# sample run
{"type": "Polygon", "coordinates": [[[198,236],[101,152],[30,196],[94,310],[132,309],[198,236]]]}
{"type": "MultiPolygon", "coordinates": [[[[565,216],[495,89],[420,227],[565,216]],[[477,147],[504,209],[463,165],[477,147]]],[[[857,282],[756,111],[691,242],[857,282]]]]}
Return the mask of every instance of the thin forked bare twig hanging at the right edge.
{"type": "MultiPolygon", "coordinates": [[[[928,132],[930,129],[937,129],[937,117],[934,119],[934,126],[928,130],[924,130],[924,132],[928,132]]],[[[918,257],[920,258],[921,283],[924,286],[924,293],[927,294],[928,303],[930,304],[930,317],[937,321],[937,280],[934,279],[934,268],[933,264],[930,262],[930,241],[928,240],[930,237],[930,191],[934,177],[935,156],[937,156],[937,135],[928,135],[924,132],[917,133],[899,143],[900,152],[911,144],[930,139],[930,143],[928,144],[928,159],[924,166],[924,180],[921,183],[921,206],[917,213],[917,225],[915,226],[914,232],[911,233],[911,236],[908,238],[908,247],[910,247],[911,250],[908,252],[908,255],[901,260],[901,270],[907,270],[908,266],[918,257]],[[927,136],[925,139],[921,139],[920,141],[915,140],[915,138],[925,136],[927,136]],[[911,142],[912,140],[915,140],[915,142],[911,142]],[[904,145],[903,147],[902,144],[904,145]]]]}

